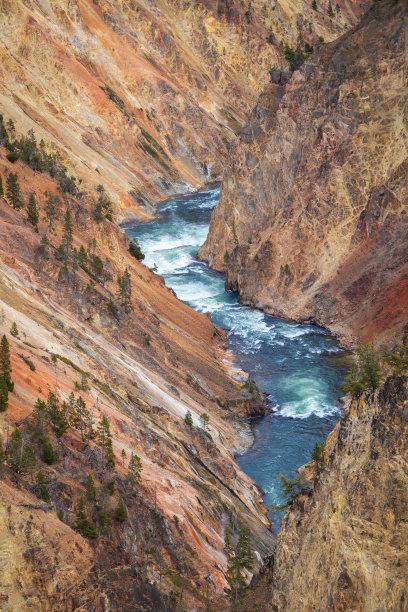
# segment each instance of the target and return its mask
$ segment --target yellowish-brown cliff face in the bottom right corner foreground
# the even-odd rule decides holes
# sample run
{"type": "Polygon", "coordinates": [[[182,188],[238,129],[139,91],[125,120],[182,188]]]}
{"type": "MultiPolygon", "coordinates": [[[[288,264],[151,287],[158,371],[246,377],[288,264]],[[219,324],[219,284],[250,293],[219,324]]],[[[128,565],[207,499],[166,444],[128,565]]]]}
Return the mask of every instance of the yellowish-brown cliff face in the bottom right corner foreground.
{"type": "Polygon", "coordinates": [[[242,610],[406,610],[407,431],[406,381],[352,401],[242,610]]]}

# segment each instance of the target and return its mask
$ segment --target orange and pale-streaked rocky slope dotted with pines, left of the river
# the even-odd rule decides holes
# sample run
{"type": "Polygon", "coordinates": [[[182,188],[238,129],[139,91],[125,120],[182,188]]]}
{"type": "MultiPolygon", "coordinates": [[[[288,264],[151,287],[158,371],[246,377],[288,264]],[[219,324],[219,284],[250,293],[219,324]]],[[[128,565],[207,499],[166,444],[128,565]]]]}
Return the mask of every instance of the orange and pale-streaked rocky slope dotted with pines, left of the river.
{"type": "Polygon", "coordinates": [[[250,442],[245,415],[265,406],[257,393],[241,391],[223,365],[223,332],[130,256],[125,232],[95,218],[90,194],[62,193],[47,173],[21,159],[11,163],[6,154],[0,149],[3,185],[17,174],[24,206],[12,208],[0,197],[0,335],[9,340],[15,383],[0,412],[0,445],[10,449],[17,428],[36,463],[19,473],[11,451],[4,464],[0,450],[0,608],[204,610],[208,599],[225,609],[228,517],[250,527],[259,559],[273,544],[260,492],[233,457],[250,442]],[[40,209],[38,233],[27,221],[31,193],[40,209]],[[50,194],[56,219],[47,229],[50,194]],[[67,210],[73,244],[64,254],[58,247],[67,210]],[[117,296],[125,268],[128,313],[117,296]],[[78,423],[61,437],[50,428],[57,459],[45,462],[32,413],[50,391],[60,403],[69,403],[71,393],[81,396],[94,428],[108,418],[114,470],[100,439],[84,441],[78,423]],[[200,426],[203,412],[208,432],[200,426]],[[135,496],[126,481],[132,452],[142,462],[135,496]],[[38,499],[39,472],[49,502],[38,499]],[[100,530],[96,540],[73,530],[89,474],[96,498],[87,499],[86,512],[100,530]],[[124,522],[114,518],[120,498],[124,522]]]}

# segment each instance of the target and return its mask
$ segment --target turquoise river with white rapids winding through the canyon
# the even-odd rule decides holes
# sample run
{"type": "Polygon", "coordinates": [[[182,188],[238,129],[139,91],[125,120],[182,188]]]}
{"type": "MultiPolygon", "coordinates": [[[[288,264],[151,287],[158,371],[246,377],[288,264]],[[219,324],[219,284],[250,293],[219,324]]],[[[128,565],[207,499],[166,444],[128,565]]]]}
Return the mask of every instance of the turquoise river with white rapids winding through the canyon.
{"type": "Polygon", "coordinates": [[[310,459],[340,415],[342,352],[314,325],[297,325],[242,306],[224,289],[224,275],[196,260],[219,190],[192,194],[160,207],[155,220],[128,229],[179,299],[228,330],[237,365],[249,372],[275,412],[256,422],[253,447],[237,458],[265,491],[281,503],[279,473],[293,475],[310,459]]]}

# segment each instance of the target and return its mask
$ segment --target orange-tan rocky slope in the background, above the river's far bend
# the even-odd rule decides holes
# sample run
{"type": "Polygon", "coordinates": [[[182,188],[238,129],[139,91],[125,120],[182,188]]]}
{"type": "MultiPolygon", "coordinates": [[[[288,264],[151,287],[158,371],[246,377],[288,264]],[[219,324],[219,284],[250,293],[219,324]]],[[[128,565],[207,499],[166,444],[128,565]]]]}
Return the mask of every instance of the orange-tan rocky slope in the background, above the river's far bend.
{"type": "Polygon", "coordinates": [[[221,178],[281,43],[331,40],[364,7],[310,4],[1,0],[0,110],[102,182],[118,218],[146,214],[221,178]]]}

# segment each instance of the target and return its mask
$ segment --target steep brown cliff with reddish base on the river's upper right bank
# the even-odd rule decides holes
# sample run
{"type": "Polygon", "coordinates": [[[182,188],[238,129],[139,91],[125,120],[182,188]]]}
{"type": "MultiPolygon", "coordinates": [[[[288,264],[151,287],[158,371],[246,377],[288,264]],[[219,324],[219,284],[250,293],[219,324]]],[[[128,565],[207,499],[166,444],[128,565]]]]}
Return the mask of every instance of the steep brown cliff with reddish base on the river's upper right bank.
{"type": "Polygon", "coordinates": [[[405,2],[299,71],[272,71],[232,148],[200,256],[242,300],[349,339],[407,317],[405,2]]]}

